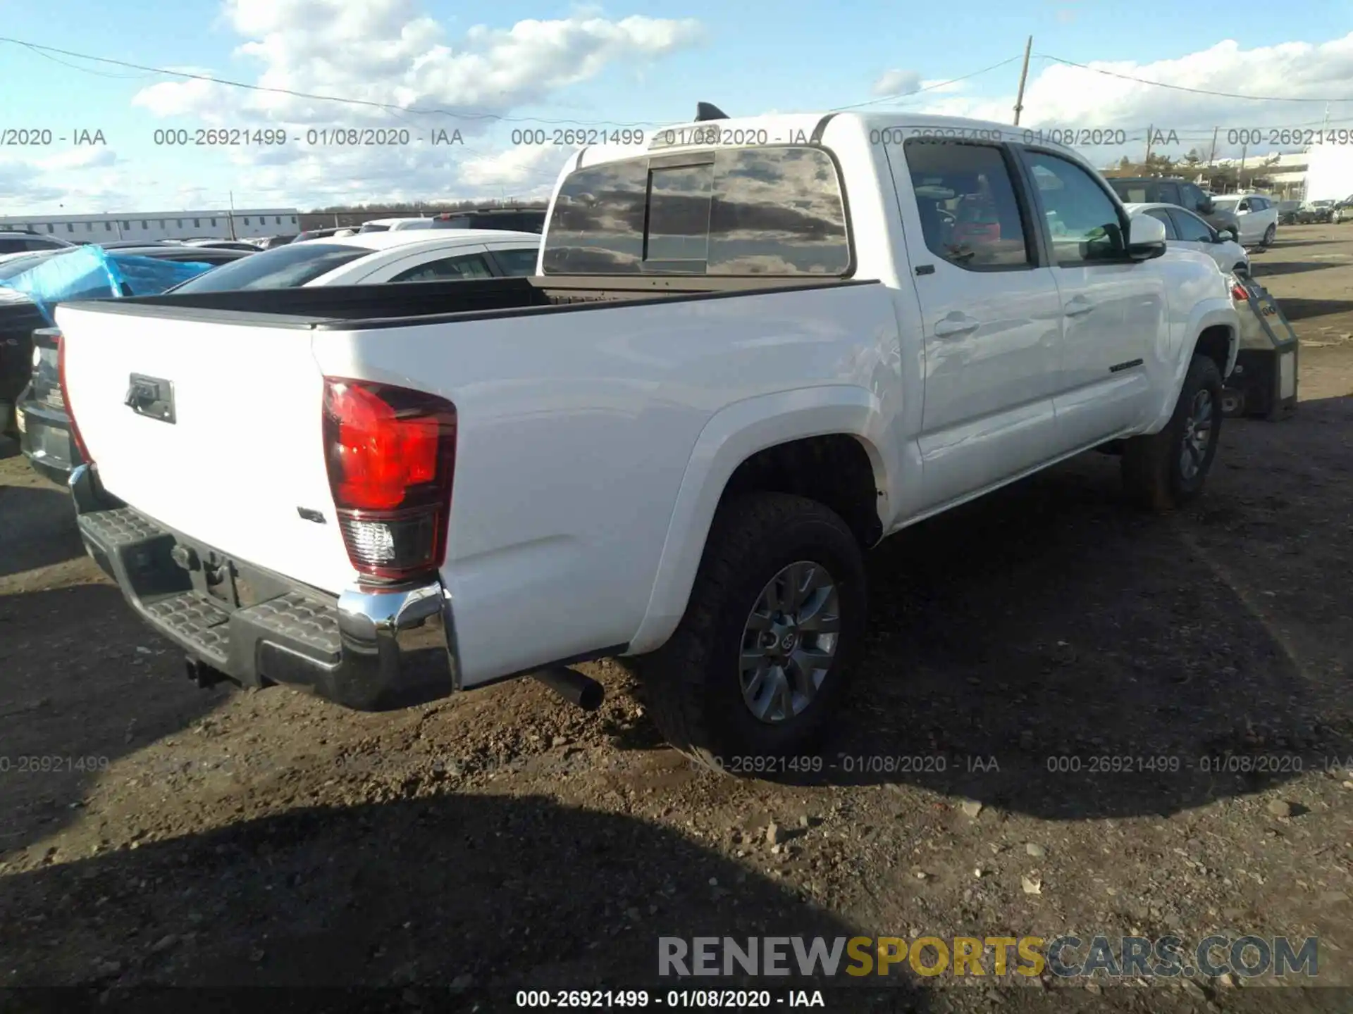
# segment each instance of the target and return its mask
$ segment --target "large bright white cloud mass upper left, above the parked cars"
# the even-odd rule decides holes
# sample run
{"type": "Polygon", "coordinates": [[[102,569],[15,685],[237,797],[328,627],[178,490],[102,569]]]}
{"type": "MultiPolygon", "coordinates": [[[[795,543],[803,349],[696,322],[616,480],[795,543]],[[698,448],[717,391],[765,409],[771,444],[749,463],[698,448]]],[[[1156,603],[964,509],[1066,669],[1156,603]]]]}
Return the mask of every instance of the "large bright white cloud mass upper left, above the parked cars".
{"type": "MultiPolygon", "coordinates": [[[[253,73],[231,68],[216,77],[371,104],[203,80],[161,81],[138,92],[133,104],[161,118],[192,118],[200,126],[285,127],[292,143],[233,147],[223,157],[233,166],[238,191],[304,207],[311,201],[548,191],[570,149],[524,146],[486,153],[474,142],[506,134],[502,118],[521,118],[525,107],[557,103],[570,87],[609,68],[637,72],[647,61],[702,38],[700,23],[691,19],[613,20],[594,7],[509,27],[476,24],[449,38],[418,0],[223,0],[219,23],[245,39],[235,49],[237,64],[253,68],[253,73]],[[307,130],[349,127],[407,130],[417,141],[357,147],[295,141],[307,130]],[[459,128],[468,143],[429,145],[429,131],[438,128],[459,128]]],[[[605,114],[593,115],[599,120],[605,114]]],[[[586,120],[587,114],[576,118],[586,120]]]]}

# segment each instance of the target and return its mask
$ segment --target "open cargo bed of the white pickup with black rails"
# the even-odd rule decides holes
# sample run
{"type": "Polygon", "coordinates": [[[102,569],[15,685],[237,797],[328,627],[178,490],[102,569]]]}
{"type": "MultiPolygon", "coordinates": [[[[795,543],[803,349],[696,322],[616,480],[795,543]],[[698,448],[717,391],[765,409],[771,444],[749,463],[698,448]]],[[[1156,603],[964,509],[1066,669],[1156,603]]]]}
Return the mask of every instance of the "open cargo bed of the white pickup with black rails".
{"type": "Polygon", "coordinates": [[[288,289],[166,293],[106,301],[72,301],[108,314],[170,316],[269,327],[363,327],[430,324],[441,319],[483,319],[599,303],[639,306],[674,299],[718,299],[875,284],[838,277],[602,277],[534,276],[467,281],[411,281],[386,285],[327,285],[288,289]]]}

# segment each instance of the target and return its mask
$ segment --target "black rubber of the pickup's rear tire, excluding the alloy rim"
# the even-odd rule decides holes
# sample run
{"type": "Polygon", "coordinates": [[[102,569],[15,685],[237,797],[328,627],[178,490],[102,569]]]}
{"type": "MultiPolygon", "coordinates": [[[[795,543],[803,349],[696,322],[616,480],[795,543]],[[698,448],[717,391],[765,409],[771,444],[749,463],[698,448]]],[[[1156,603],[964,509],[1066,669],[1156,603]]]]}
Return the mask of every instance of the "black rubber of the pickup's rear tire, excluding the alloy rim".
{"type": "Polygon", "coordinates": [[[639,661],[643,694],[667,742],[714,771],[760,769],[755,758],[801,756],[840,704],[865,638],[865,562],[846,522],[823,504],[787,493],[750,493],[720,506],[690,602],[676,631],[639,661]],[[746,623],[785,566],[827,569],[840,629],[827,675],[798,714],[777,723],[743,700],[739,658],[746,623]],[[751,764],[750,764],[751,761],[751,764]]]}

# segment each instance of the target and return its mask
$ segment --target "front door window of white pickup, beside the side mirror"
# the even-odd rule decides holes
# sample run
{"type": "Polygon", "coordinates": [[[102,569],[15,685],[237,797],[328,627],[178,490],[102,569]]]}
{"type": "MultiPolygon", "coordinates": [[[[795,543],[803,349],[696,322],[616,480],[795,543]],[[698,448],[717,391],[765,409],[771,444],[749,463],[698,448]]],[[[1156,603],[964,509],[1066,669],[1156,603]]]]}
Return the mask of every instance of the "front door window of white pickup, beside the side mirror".
{"type": "Polygon", "coordinates": [[[1122,261],[1127,237],[1118,206],[1081,166],[1046,151],[1024,151],[1043,206],[1053,258],[1073,266],[1122,261]]]}

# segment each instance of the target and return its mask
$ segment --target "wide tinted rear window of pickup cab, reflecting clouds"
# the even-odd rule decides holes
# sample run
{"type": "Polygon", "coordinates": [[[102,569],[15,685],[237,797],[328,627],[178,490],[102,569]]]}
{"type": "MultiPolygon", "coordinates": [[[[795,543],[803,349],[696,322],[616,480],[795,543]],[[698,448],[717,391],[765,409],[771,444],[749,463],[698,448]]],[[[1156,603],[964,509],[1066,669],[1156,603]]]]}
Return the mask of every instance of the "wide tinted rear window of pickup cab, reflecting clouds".
{"type": "Polygon", "coordinates": [[[559,189],[545,274],[851,270],[836,164],[819,147],[655,154],[587,166],[559,189]]]}

